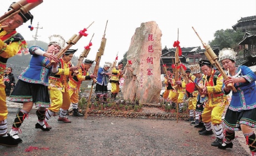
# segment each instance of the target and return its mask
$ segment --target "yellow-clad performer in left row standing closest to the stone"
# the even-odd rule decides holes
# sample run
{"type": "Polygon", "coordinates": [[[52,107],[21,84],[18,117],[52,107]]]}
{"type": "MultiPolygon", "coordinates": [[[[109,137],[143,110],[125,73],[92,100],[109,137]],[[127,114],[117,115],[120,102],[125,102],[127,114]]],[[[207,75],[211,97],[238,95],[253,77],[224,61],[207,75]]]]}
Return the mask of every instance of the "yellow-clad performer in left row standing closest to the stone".
{"type": "Polygon", "coordinates": [[[120,78],[123,77],[122,67],[123,67],[123,62],[118,62],[118,66],[114,67],[112,69],[112,75],[111,75],[111,78],[109,80],[111,82],[111,95],[110,95],[110,97],[114,98],[114,99],[116,99],[117,94],[120,91],[119,80],[120,80],[120,78]]]}

